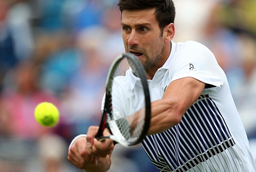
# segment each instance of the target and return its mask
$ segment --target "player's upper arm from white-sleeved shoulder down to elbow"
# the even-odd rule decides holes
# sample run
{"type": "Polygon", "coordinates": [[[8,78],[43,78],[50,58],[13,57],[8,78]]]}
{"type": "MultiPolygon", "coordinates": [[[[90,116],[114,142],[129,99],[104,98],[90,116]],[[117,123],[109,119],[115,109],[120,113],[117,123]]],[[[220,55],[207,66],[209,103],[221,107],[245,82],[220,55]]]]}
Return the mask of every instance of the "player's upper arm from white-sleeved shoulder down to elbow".
{"type": "MultiPolygon", "coordinates": [[[[203,91],[218,91],[224,83],[224,72],[212,52],[204,45],[188,41],[180,46],[171,61],[170,84],[163,100],[170,102],[180,117],[203,91]]],[[[181,119],[181,118],[180,118],[181,119]]]]}

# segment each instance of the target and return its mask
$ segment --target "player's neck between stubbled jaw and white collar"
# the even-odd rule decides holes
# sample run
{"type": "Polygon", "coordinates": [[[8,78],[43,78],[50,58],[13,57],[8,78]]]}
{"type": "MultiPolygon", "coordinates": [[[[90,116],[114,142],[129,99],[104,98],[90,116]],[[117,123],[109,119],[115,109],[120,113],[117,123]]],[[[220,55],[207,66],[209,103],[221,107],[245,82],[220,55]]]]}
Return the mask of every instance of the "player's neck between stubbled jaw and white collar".
{"type": "Polygon", "coordinates": [[[156,61],[156,65],[146,69],[146,74],[148,79],[152,80],[154,75],[156,74],[156,71],[164,65],[164,63],[167,61],[168,57],[171,54],[171,49],[172,49],[172,43],[168,44],[168,46],[166,46],[163,49],[161,53],[161,58],[159,61],[156,61]]]}

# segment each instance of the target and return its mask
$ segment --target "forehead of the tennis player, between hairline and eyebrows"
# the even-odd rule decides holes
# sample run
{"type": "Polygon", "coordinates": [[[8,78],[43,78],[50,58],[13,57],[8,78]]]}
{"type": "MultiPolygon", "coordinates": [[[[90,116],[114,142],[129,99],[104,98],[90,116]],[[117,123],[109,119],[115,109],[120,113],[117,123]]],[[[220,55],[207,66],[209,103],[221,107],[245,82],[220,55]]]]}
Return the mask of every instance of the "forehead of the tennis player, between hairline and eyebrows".
{"type": "Polygon", "coordinates": [[[122,11],[122,23],[128,25],[140,23],[150,23],[152,25],[157,24],[156,10],[124,10],[122,11]]]}

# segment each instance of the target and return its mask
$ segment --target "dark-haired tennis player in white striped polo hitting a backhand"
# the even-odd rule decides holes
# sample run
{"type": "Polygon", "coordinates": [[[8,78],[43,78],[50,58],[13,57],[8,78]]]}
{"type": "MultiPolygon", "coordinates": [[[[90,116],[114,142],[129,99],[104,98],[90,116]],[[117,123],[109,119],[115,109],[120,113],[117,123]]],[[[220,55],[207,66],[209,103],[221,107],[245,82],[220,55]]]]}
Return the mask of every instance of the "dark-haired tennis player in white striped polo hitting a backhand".
{"type": "MultiPolygon", "coordinates": [[[[159,171],[253,172],[256,165],[227,78],[204,45],[172,41],[172,0],[119,0],[126,52],[143,64],[151,96],[151,125],[141,143],[159,171]]],[[[137,77],[120,83],[121,114],[136,110],[137,77]],[[131,106],[132,104],[132,106],[131,106]]],[[[98,127],[70,144],[68,160],[85,171],[107,171],[112,140],[94,139],[98,127]],[[96,157],[96,158],[95,158],[96,157]],[[94,161],[95,160],[95,161],[94,161]]],[[[104,135],[109,135],[105,129],[104,135]]]]}

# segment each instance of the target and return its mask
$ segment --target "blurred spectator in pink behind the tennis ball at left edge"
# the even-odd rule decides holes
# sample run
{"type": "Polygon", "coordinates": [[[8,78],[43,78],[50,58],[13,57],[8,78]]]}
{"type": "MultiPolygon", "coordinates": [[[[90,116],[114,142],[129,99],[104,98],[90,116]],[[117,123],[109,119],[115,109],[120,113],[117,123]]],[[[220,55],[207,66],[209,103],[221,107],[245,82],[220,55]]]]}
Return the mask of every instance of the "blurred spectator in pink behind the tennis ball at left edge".
{"type": "Polygon", "coordinates": [[[4,106],[10,112],[14,135],[22,138],[36,139],[42,133],[49,132],[35,121],[34,108],[37,104],[52,102],[58,106],[56,97],[38,87],[38,70],[33,62],[26,61],[17,65],[13,74],[6,78],[4,106]]]}

